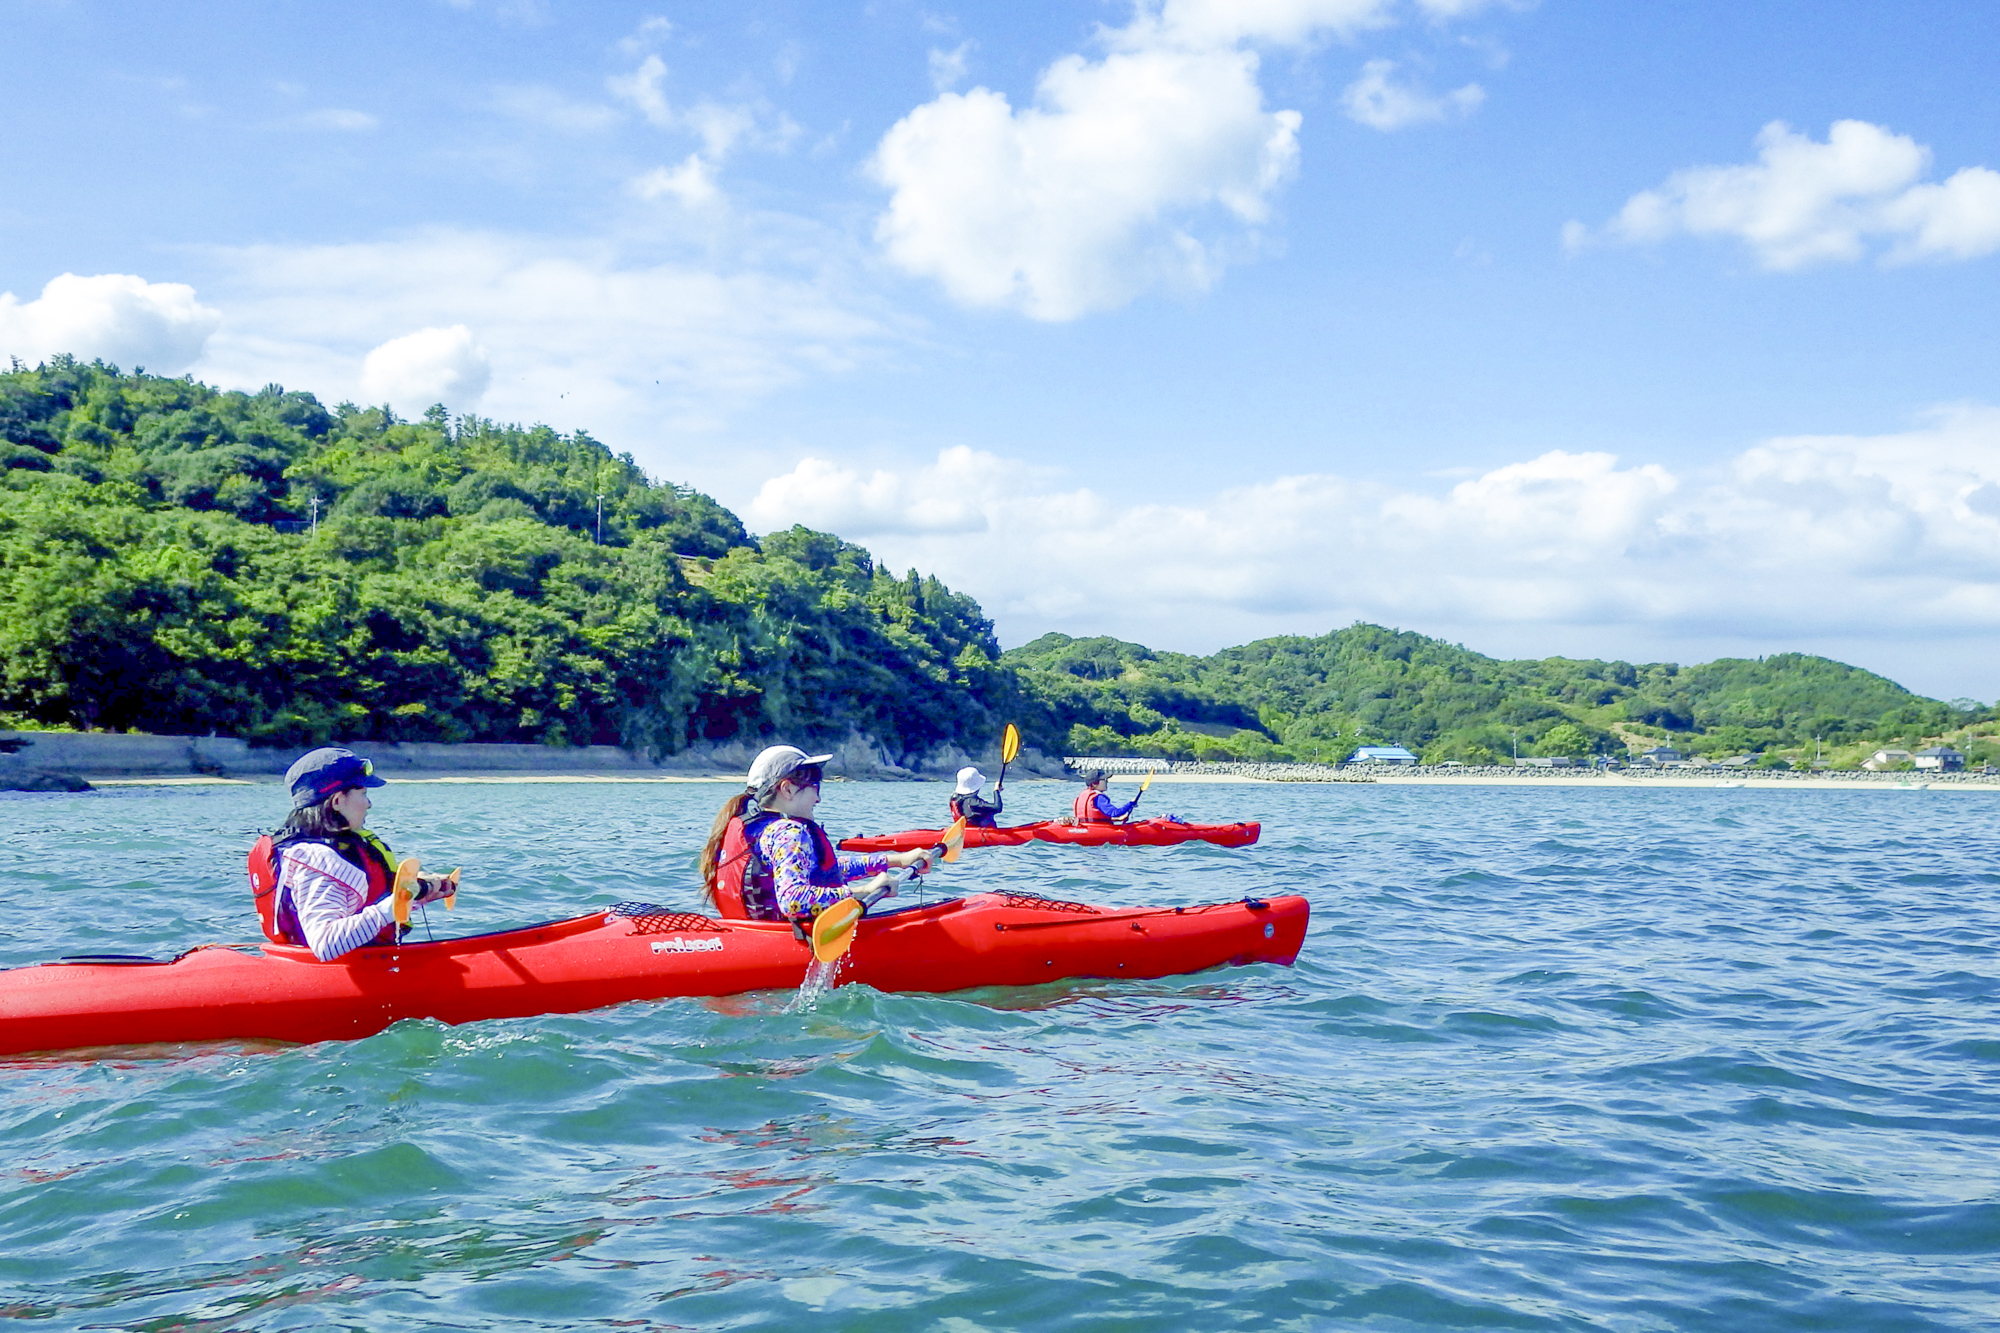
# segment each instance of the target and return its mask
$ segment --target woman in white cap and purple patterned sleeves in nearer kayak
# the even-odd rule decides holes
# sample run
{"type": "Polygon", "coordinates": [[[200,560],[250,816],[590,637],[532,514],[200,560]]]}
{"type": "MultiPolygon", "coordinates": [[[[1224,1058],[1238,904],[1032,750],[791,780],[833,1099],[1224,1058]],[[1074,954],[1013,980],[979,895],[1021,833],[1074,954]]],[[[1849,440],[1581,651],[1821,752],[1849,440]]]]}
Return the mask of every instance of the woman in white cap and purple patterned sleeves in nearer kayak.
{"type": "Polygon", "coordinates": [[[844,897],[864,897],[892,867],[930,861],[928,851],[874,857],[836,851],[812,819],[820,765],[828,759],[774,745],[750,765],[744,791],[722,803],[702,847],[702,889],[722,917],[798,921],[844,897]]]}

